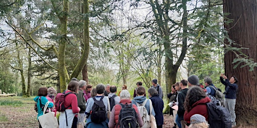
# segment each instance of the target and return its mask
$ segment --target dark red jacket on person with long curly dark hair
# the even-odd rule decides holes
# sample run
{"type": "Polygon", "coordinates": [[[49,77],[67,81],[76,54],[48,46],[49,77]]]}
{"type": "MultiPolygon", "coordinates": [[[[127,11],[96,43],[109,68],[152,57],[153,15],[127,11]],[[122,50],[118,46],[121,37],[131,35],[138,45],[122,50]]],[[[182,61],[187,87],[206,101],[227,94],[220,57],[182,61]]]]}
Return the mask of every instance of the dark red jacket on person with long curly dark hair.
{"type": "Polygon", "coordinates": [[[185,111],[184,113],[184,120],[187,121],[187,123],[190,123],[190,117],[194,114],[201,114],[205,117],[205,119],[208,121],[208,110],[207,110],[207,102],[210,102],[210,98],[207,96],[199,101],[196,101],[192,105],[192,109],[190,111],[185,111]]]}

